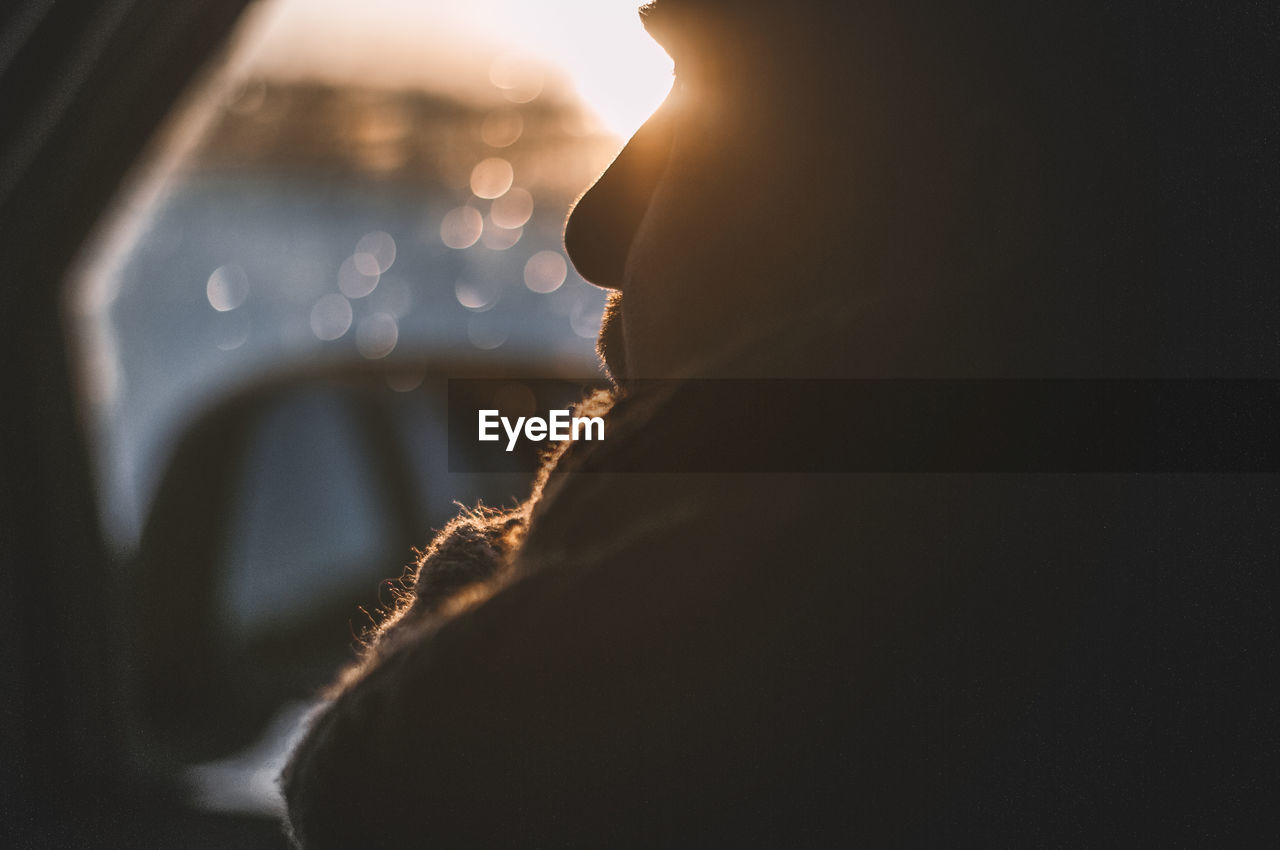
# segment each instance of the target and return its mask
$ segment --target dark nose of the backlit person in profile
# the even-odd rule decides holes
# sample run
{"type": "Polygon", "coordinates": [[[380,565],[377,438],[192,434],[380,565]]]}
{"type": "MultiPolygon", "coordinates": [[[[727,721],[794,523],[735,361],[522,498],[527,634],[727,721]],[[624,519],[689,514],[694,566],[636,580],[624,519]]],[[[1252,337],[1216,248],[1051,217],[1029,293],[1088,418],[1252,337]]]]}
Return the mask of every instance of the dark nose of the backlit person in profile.
{"type": "Polygon", "coordinates": [[[564,250],[586,280],[622,287],[632,237],[667,168],[672,120],[666,108],[645,122],[604,174],[573,205],[564,250]]]}

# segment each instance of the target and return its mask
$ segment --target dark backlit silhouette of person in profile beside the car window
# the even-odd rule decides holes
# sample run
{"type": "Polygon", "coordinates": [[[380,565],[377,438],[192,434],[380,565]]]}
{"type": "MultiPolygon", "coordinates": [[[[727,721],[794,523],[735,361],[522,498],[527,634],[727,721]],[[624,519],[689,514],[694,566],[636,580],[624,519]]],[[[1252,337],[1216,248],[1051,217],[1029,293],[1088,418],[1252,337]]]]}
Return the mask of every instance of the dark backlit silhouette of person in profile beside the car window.
{"type": "Polygon", "coordinates": [[[684,379],[1274,378],[1275,13],[847,6],[648,9],[676,86],[566,230],[609,437],[436,539],[285,773],[302,845],[1267,826],[1274,475],[671,470],[799,434],[684,379]]]}

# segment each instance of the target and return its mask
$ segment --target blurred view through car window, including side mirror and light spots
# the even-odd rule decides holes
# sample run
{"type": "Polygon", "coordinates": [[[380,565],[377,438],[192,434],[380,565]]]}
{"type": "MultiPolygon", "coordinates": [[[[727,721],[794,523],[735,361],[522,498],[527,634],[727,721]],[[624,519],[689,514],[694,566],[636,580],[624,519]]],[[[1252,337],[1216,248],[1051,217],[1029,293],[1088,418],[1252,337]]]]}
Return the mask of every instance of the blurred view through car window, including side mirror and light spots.
{"type": "Polygon", "coordinates": [[[449,472],[444,381],[599,380],[561,232],[669,84],[634,0],[248,8],[64,293],[138,773],[278,815],[413,547],[527,494],[449,472]]]}

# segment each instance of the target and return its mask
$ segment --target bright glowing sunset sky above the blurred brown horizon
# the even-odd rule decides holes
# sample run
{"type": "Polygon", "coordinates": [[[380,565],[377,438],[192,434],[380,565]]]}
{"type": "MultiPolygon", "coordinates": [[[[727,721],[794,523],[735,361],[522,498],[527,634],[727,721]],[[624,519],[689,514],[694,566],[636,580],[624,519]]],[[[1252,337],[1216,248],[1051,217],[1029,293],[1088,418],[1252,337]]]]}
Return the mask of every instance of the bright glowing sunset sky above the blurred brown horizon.
{"type": "MultiPolygon", "coordinates": [[[[671,87],[637,0],[262,0],[243,61],[252,72],[466,93],[493,72],[545,65],[620,137],[671,87]],[[498,65],[494,61],[498,60],[498,65]]],[[[553,83],[548,83],[553,84],[553,83]]]]}

